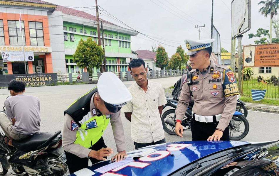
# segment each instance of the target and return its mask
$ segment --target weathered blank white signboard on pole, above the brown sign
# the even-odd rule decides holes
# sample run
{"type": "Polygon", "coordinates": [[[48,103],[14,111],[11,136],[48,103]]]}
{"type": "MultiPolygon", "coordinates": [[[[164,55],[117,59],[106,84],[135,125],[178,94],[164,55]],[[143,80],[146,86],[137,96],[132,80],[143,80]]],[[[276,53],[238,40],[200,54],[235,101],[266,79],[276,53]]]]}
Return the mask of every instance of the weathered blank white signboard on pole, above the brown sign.
{"type": "Polygon", "coordinates": [[[233,0],[231,2],[231,27],[235,39],[251,28],[251,0],[233,0]]]}

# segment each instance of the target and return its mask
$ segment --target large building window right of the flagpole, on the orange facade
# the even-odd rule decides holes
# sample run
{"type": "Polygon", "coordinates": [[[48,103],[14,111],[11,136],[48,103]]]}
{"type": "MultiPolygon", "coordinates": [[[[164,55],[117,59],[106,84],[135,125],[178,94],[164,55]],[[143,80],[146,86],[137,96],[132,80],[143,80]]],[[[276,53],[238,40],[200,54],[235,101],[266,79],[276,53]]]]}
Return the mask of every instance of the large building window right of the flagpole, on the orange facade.
{"type": "MultiPolygon", "coordinates": [[[[29,33],[31,46],[44,46],[43,23],[29,22],[29,33]]],[[[68,36],[68,35],[67,35],[68,36]]]]}

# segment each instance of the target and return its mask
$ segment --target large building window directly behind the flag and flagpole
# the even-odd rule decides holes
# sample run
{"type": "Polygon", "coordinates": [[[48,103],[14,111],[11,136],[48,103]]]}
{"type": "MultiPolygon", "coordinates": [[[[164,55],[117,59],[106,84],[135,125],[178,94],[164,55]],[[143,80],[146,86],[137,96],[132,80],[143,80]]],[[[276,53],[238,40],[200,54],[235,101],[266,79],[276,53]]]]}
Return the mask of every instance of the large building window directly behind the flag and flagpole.
{"type": "Polygon", "coordinates": [[[21,32],[19,21],[8,21],[10,45],[26,45],[24,22],[22,21],[23,43],[21,39],[21,32]]]}

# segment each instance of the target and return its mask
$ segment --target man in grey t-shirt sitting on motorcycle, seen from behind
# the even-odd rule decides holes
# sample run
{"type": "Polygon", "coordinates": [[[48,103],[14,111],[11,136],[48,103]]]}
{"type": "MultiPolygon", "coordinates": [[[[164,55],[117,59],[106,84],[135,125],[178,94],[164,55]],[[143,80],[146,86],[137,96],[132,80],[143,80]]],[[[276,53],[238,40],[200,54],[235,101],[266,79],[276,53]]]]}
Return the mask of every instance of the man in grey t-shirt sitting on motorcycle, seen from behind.
{"type": "Polygon", "coordinates": [[[12,97],[5,100],[6,114],[0,113],[0,126],[7,137],[2,139],[9,148],[12,140],[22,140],[40,131],[40,100],[38,97],[23,95],[25,83],[11,80],[8,90],[12,97]]]}

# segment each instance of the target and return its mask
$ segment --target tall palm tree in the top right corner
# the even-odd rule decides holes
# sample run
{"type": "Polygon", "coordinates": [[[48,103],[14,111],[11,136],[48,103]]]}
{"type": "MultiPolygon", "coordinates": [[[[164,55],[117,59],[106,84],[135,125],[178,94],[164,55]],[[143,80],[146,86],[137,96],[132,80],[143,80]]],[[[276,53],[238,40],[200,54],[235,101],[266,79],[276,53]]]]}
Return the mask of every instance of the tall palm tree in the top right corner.
{"type": "Polygon", "coordinates": [[[279,9],[279,0],[265,0],[260,1],[258,5],[263,5],[259,12],[267,17],[270,15],[270,43],[272,43],[272,18],[277,15],[277,10],[279,9]]]}

